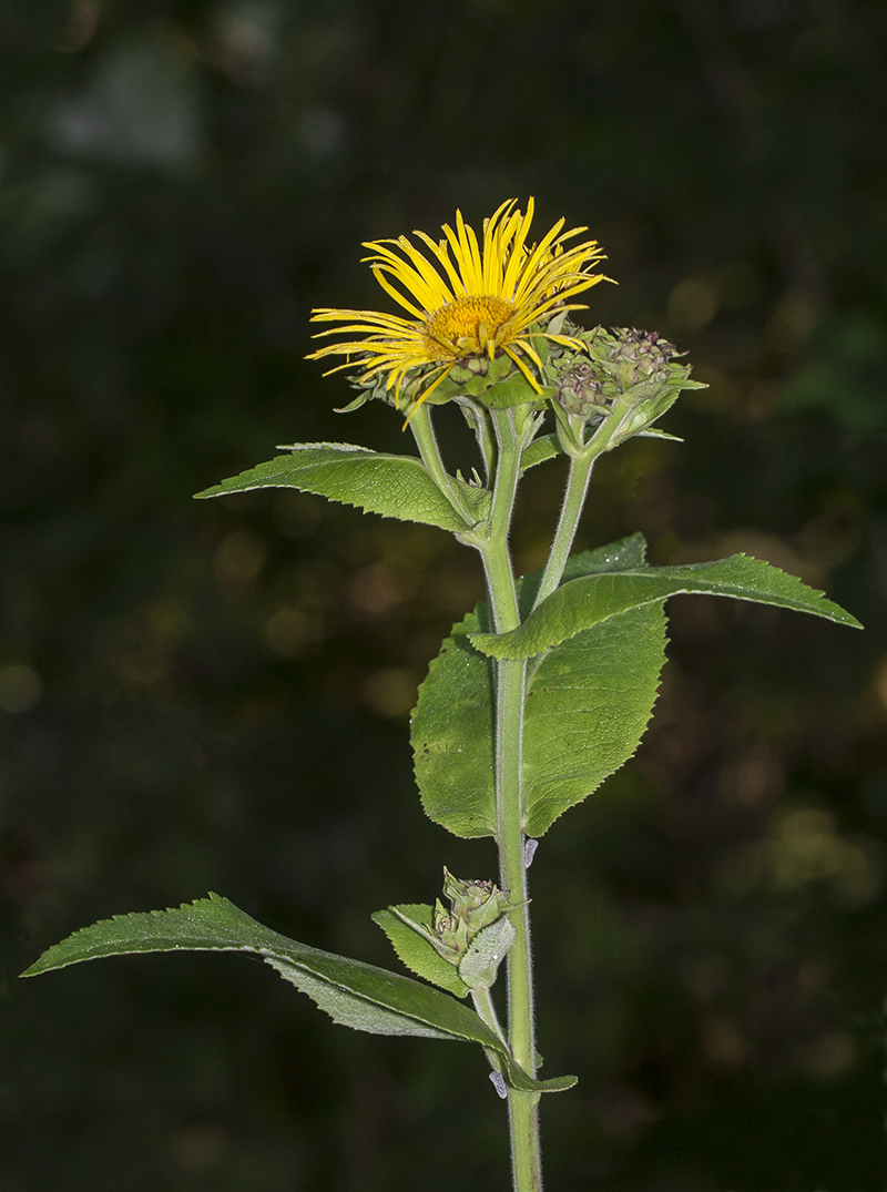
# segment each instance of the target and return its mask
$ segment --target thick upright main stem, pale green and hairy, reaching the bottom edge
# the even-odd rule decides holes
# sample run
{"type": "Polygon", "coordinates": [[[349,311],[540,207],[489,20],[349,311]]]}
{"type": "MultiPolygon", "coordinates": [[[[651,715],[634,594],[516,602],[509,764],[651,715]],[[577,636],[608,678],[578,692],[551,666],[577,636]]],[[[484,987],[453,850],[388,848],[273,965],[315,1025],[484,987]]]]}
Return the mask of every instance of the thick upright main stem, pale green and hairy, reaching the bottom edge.
{"type": "MultiPolygon", "coordinates": [[[[520,458],[526,435],[516,427],[514,410],[492,411],[498,441],[496,483],[490,511],[490,536],[480,548],[490,610],[497,633],[520,625],[514,571],[508,550],[520,458]]],[[[526,426],[526,423],[525,423],[526,426]]],[[[535,1075],[533,1023],[533,969],[527,906],[527,870],[523,863],[523,699],[526,663],[509,659],[494,663],[496,685],[496,842],[500,881],[521,902],[511,912],[517,932],[508,954],[508,1041],[517,1063],[535,1075]]],[[[514,1192],[539,1192],[542,1186],[541,1149],[536,1105],[539,1095],[508,1089],[514,1192]]]]}

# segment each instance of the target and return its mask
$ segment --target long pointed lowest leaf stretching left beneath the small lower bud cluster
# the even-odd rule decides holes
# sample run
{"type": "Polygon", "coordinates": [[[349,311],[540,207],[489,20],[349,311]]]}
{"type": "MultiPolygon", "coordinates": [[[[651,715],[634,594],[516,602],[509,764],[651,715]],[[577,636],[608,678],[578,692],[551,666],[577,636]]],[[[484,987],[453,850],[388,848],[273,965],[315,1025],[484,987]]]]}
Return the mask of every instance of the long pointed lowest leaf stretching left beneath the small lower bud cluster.
{"type": "Polygon", "coordinates": [[[23,976],[129,952],[254,952],[312,998],[334,1022],[374,1035],[464,1039],[496,1051],[515,1088],[560,1092],[576,1080],[536,1081],[471,1010],[439,989],[373,964],[309,948],[263,927],[218,894],[178,909],[116,915],[48,949],[23,976]]]}

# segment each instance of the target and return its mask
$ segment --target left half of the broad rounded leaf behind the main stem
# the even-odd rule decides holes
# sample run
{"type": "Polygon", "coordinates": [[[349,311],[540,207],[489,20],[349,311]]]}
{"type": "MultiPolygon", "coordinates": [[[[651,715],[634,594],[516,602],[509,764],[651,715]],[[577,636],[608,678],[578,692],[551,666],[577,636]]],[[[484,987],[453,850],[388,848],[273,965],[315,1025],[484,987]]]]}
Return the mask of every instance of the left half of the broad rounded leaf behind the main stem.
{"type": "Polygon", "coordinates": [[[426,815],[465,838],[496,832],[492,670],[467,637],[486,628],[485,613],[480,604],[453,626],[418,689],[410,730],[426,815]]]}

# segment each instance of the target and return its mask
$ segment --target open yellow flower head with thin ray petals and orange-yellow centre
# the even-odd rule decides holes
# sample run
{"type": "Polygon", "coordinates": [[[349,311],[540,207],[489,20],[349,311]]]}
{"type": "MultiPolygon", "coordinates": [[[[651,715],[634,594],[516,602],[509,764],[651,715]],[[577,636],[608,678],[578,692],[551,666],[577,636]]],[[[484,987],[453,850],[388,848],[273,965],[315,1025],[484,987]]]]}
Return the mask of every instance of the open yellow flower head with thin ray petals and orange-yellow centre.
{"type": "Polygon", "coordinates": [[[446,238],[436,243],[424,232],[415,232],[424,252],[407,236],[364,244],[373,252],[365,260],[376,280],[414,317],[371,310],[315,310],[312,322],[346,324],[321,331],[315,339],[336,334],[359,334],[360,339],[329,343],[309,359],[345,355],[346,362],[330,370],[337,372],[353,367],[352,358],[356,358],[354,362],[362,368],[360,380],[386,377],[385,387],[393,389],[398,408],[404,377],[414,368],[432,366],[414,410],[455,365],[478,356],[492,360],[502,353],[510,356],[535,392],[541,392],[538,377],[542,362],[532,336],[581,350],[578,340],[552,334],[545,327],[560,311],[584,309],[567,299],[609,279],[591,272],[603,260],[597,241],[565,247],[587,228],[562,232],[564,221],[559,219],[538,244],[528,246],[533,199],[526,216],[515,210],[516,201],[503,203],[491,218],[484,219],[483,244],[460,211],[455,213],[455,230],[444,224],[446,238]]]}

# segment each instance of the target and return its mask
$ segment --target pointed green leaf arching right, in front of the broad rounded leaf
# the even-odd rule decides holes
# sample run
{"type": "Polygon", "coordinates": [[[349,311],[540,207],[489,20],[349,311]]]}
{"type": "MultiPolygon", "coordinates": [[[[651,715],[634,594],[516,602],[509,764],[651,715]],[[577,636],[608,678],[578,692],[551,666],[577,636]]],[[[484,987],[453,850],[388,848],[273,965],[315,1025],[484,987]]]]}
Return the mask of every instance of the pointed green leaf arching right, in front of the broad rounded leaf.
{"type": "Polygon", "coordinates": [[[677,567],[634,567],[572,579],[545,600],[510,633],[472,633],[472,645],[492,658],[532,658],[612,616],[680,592],[739,600],[812,613],[862,628],[844,609],[795,576],[745,554],[677,567]]]}

